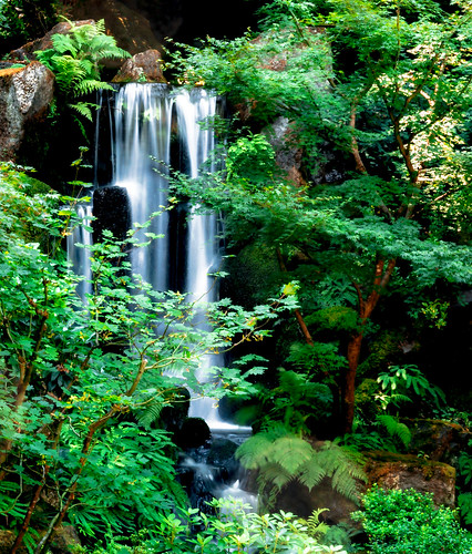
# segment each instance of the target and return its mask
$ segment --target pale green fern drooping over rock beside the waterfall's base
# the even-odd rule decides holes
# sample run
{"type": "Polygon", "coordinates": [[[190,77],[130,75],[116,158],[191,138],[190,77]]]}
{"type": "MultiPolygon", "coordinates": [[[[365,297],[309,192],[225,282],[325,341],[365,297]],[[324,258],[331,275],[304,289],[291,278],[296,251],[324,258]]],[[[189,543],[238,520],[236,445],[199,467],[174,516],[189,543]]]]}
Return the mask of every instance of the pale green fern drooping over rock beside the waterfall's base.
{"type": "Polygon", "coordinates": [[[330,441],[314,447],[283,425],[254,434],[236,456],[246,469],[259,472],[259,491],[268,491],[269,504],[291,481],[311,490],[329,478],[332,488],[352,501],[358,499],[358,482],[366,481],[359,452],[330,441]]]}

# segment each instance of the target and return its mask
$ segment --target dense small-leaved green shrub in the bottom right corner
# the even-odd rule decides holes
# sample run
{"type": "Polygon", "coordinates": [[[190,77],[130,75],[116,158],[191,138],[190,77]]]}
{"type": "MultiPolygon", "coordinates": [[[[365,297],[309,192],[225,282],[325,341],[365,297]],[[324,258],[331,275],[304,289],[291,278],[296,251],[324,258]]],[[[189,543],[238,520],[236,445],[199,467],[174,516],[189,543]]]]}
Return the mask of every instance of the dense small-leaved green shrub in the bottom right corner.
{"type": "Polygon", "coordinates": [[[371,554],[465,554],[472,548],[454,511],[437,509],[432,494],[373,486],[363,496],[362,506],[363,511],[352,516],[362,522],[371,554]]]}

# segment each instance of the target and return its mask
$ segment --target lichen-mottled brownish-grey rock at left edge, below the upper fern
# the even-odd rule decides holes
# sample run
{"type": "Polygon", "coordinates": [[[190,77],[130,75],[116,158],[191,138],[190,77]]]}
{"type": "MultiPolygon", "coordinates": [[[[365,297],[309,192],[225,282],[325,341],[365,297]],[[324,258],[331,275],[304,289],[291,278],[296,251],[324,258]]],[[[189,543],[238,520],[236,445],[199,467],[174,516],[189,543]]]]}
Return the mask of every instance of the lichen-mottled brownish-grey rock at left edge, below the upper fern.
{"type": "Polygon", "coordinates": [[[27,127],[53,99],[54,75],[39,62],[0,70],[0,160],[14,160],[27,127]]]}

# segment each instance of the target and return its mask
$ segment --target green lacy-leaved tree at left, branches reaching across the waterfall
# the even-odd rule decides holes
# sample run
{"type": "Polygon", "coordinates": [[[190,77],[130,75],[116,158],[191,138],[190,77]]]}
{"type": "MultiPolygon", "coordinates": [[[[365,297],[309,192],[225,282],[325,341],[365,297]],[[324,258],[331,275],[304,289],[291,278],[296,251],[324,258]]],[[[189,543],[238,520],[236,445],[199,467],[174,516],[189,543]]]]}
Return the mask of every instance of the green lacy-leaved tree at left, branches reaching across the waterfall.
{"type": "MultiPolygon", "coordinates": [[[[131,274],[129,252],[156,239],[147,223],[123,240],[105,230],[90,247],[91,291],[82,298],[83,277],[61,247],[84,223],[76,201],[34,194],[23,172],[1,170],[1,525],[18,531],[17,548],[33,524],[49,525],[38,552],[64,520],[98,536],[153,526],[156,506],[167,513],[186,501],[160,408],[179,401],[175,389],[184,384],[212,394],[214,384],[205,390],[195,377],[205,355],[261,339],[267,321],[296,299],[281,295],[255,310],[222,300],[207,306],[213,327],[196,329],[195,304],[131,274]]],[[[245,361],[247,376],[260,371],[245,361]]],[[[238,391],[245,379],[236,368],[228,382],[219,377],[215,394],[238,391]]]]}

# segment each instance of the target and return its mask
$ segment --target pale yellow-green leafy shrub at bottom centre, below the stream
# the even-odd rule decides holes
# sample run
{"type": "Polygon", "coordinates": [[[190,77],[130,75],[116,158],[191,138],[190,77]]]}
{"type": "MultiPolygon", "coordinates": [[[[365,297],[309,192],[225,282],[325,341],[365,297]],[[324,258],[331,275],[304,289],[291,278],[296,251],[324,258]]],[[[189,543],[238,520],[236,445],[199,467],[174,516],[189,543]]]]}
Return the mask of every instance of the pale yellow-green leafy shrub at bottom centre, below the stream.
{"type": "Polygon", "coordinates": [[[258,515],[248,512],[250,506],[234,499],[209,503],[213,514],[198,510],[179,510],[176,514],[160,515],[157,530],[141,531],[135,540],[137,547],[113,542],[93,554],[116,552],[134,553],[189,553],[224,554],[230,552],[291,553],[291,554],[346,554],[342,546],[324,545],[307,534],[307,527],[291,513],[258,515]]]}

